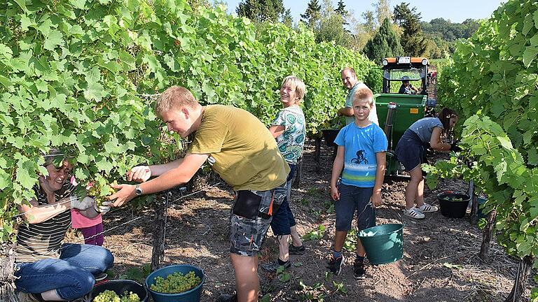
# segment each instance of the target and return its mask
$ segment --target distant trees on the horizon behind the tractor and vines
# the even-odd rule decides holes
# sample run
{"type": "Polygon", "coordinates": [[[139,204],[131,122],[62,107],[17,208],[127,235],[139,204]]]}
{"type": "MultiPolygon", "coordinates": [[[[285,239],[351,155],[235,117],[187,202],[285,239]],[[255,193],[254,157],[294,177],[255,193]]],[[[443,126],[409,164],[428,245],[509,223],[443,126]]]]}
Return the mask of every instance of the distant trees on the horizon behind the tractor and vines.
{"type": "MultiPolygon", "coordinates": [[[[200,0],[192,1],[200,3],[200,0]]],[[[282,22],[288,27],[298,26],[282,0],[242,0],[235,12],[255,23],[282,22]]],[[[363,52],[378,63],[383,57],[396,55],[449,57],[457,39],[469,38],[479,26],[478,20],[473,19],[462,23],[443,18],[424,22],[418,8],[401,2],[392,9],[390,0],[373,3],[371,10],[361,14],[361,20],[347,10],[343,0],[336,6],[331,0],[310,0],[299,22],[314,32],[318,43],[333,42],[363,52]]]]}

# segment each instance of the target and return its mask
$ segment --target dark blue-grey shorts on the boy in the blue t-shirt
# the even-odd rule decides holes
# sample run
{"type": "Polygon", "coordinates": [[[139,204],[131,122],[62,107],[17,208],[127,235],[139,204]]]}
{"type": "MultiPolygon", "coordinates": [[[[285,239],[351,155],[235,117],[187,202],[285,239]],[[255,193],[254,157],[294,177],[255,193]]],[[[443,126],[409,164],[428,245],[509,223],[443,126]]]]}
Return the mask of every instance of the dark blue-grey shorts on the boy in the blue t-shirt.
{"type": "Polygon", "coordinates": [[[357,229],[375,227],[375,208],[370,203],[373,187],[355,187],[340,183],[340,199],[334,203],[336,231],[350,231],[357,213],[357,229]]]}

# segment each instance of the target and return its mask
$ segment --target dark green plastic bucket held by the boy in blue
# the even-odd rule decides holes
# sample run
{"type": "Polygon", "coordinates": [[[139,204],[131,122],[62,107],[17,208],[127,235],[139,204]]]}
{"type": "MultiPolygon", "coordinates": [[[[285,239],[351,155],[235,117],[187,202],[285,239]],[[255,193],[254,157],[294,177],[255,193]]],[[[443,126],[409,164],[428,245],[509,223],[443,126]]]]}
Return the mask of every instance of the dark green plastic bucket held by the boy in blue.
{"type": "Polygon", "coordinates": [[[359,231],[371,264],[388,264],[403,257],[403,224],[382,224],[359,231]]]}

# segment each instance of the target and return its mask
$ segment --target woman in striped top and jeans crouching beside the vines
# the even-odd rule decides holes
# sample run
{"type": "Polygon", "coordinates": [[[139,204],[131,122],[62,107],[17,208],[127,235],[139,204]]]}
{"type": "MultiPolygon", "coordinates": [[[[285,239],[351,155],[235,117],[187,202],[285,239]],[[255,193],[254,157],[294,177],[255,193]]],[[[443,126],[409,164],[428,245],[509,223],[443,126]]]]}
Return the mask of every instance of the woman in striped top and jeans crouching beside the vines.
{"type": "Polygon", "coordinates": [[[48,175],[39,177],[34,186],[36,198],[19,206],[22,225],[17,234],[15,285],[20,301],[65,301],[88,294],[95,277],[113,264],[109,250],[97,245],[64,243],[71,226],[71,208],[85,217],[106,213],[109,203],[97,206],[90,197],[74,196],[69,182],[73,166],[53,150],[46,156],[48,175]]]}

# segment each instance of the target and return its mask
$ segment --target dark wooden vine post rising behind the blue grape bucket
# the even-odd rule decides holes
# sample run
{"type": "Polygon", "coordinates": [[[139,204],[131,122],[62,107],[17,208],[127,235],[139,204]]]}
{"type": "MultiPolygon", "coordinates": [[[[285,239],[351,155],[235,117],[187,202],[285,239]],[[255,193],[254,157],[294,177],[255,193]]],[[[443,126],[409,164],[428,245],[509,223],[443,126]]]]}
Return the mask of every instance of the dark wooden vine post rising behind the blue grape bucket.
{"type": "Polygon", "coordinates": [[[156,196],[153,201],[155,218],[153,219],[153,250],[151,252],[151,271],[155,271],[162,266],[165,259],[165,238],[166,238],[166,217],[168,201],[172,192],[165,191],[156,196]]]}

